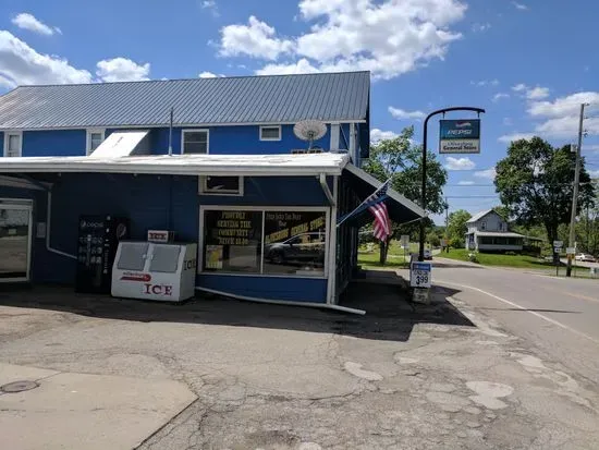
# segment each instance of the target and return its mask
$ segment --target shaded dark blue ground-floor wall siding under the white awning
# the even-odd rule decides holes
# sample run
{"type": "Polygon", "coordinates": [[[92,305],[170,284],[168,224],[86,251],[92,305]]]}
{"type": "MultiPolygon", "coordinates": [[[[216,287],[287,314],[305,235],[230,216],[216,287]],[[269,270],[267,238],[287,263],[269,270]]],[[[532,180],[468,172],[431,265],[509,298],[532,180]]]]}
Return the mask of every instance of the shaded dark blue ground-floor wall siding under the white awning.
{"type": "MultiPolygon", "coordinates": [[[[131,238],[146,240],[148,229],[170,229],[179,241],[197,242],[199,204],[327,206],[318,181],[306,178],[246,178],[246,195],[199,196],[196,177],[65,173],[52,187],[51,245],[75,254],[80,215],[117,215],[131,219],[131,238]],[[172,205],[172,207],[169,207],[172,205]]],[[[47,193],[0,187],[0,197],[33,198],[34,222],[46,221],[47,193]]],[[[35,235],[35,233],[34,233],[35,235]]],[[[75,260],[46,250],[34,239],[33,280],[72,284],[75,260]]],[[[201,285],[232,294],[274,300],[325,302],[327,281],[261,276],[201,275],[201,285]]]]}

